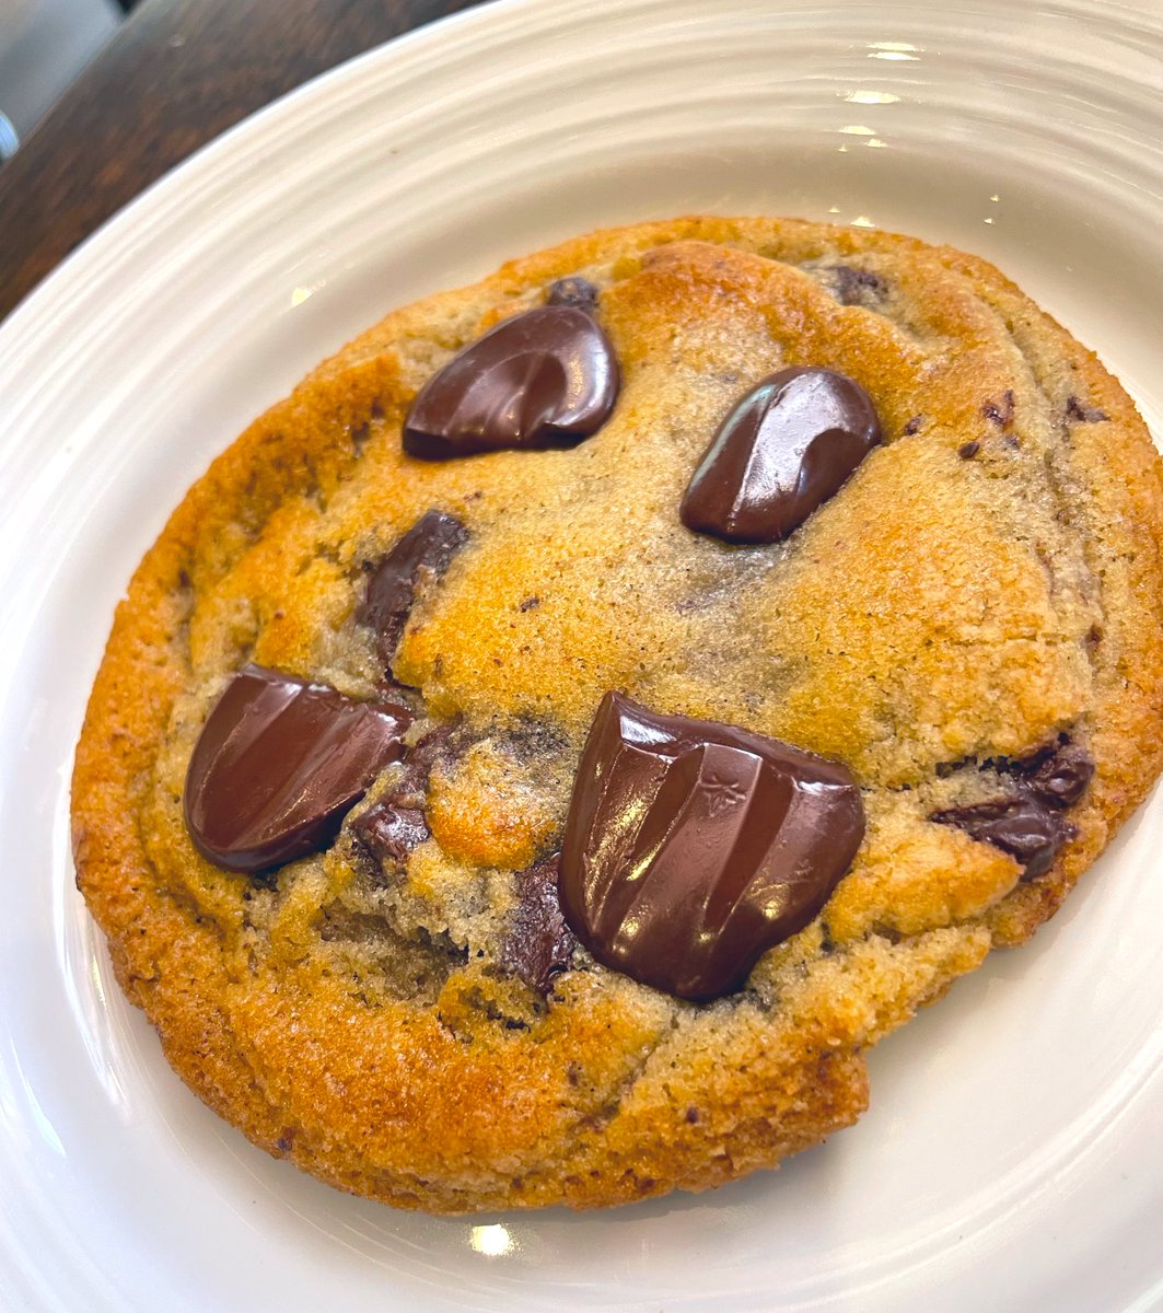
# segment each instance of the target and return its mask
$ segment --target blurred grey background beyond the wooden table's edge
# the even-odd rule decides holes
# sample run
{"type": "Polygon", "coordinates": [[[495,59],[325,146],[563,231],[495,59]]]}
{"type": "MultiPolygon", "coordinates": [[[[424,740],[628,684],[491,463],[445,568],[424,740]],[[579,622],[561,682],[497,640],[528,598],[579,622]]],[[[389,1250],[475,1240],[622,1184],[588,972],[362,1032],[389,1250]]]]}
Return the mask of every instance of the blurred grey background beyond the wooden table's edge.
{"type": "Polygon", "coordinates": [[[113,35],[133,0],[0,0],[0,159],[113,35]]]}

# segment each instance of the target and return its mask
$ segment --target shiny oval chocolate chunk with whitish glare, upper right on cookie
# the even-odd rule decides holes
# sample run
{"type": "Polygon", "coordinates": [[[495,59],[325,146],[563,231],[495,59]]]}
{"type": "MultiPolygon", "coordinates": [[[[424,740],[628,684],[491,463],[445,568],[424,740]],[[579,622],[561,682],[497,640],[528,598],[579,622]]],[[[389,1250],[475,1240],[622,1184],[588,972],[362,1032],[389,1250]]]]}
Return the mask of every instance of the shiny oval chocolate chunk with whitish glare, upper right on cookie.
{"type": "Polygon", "coordinates": [[[683,496],[683,524],[729,542],[777,542],[835,494],[881,440],[860,383],[781,369],[719,425],[683,496]]]}

